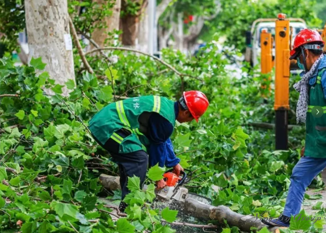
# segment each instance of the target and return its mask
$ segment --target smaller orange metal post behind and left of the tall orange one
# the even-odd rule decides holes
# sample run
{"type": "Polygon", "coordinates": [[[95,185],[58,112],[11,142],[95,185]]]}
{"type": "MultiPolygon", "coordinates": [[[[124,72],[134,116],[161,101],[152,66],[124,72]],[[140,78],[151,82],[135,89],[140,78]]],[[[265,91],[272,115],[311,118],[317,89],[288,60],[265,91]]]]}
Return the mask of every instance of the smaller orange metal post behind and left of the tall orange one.
{"type": "MultiPolygon", "coordinates": [[[[260,35],[260,47],[261,47],[261,73],[270,73],[272,70],[272,36],[268,33],[267,28],[262,29],[260,35]]],[[[270,80],[270,76],[268,77],[270,80]]],[[[265,80],[266,81],[266,80],[265,80]]],[[[266,85],[261,86],[262,89],[266,89],[266,85]]],[[[270,91],[270,87],[268,87],[270,91]]]]}

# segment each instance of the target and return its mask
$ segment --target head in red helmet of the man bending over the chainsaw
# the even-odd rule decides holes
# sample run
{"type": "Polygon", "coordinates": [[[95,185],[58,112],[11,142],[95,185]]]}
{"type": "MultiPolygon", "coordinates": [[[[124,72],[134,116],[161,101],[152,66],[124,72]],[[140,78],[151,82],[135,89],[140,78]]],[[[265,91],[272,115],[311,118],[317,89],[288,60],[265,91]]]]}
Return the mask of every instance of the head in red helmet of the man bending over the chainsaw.
{"type": "Polygon", "coordinates": [[[179,113],[176,120],[180,123],[191,122],[193,119],[198,122],[210,103],[204,93],[198,90],[190,90],[183,92],[182,97],[178,101],[179,113]]]}

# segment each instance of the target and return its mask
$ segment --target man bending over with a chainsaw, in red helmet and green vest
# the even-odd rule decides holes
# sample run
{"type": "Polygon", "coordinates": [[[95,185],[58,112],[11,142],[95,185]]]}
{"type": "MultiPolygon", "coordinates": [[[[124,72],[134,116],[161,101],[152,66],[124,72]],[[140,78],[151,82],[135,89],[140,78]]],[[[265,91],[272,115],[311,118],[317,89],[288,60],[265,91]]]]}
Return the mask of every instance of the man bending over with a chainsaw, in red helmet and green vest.
{"type": "MultiPolygon", "coordinates": [[[[184,123],[195,119],[198,122],[208,106],[205,94],[191,90],[183,92],[177,102],[153,95],[118,101],[100,110],[90,120],[93,138],[118,164],[122,200],[130,192],[128,177],[139,177],[142,186],[148,165],[158,163],[160,167],[173,167],[173,172],[180,175],[183,168],[180,159],[175,157],[170,139],[175,120],[184,123]]],[[[161,179],[156,185],[162,189],[166,183],[161,179]]],[[[126,207],[121,201],[120,211],[126,207]]]]}

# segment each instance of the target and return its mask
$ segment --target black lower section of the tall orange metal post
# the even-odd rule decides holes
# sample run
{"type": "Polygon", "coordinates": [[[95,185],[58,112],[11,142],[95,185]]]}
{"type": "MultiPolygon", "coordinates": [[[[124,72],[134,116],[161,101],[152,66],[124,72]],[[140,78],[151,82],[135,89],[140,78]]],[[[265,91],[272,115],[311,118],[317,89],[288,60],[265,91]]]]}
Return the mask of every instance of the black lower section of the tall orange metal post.
{"type": "Polygon", "coordinates": [[[276,150],[288,150],[288,110],[276,110],[275,118],[275,148],[276,150]]]}

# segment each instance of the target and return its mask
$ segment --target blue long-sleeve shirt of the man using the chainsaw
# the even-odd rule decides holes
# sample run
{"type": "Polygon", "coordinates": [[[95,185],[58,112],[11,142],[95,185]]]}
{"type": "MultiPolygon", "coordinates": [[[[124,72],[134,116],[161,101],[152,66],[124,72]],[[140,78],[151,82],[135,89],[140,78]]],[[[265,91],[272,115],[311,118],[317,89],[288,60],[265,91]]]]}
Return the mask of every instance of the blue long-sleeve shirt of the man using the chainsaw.
{"type": "MultiPolygon", "coordinates": [[[[178,103],[174,103],[175,116],[179,113],[178,103]]],[[[158,163],[160,167],[174,167],[180,162],[175,157],[170,136],[173,133],[173,125],[160,114],[153,112],[149,119],[149,132],[147,137],[151,141],[147,148],[149,154],[149,166],[158,163]]]]}

